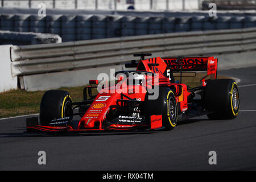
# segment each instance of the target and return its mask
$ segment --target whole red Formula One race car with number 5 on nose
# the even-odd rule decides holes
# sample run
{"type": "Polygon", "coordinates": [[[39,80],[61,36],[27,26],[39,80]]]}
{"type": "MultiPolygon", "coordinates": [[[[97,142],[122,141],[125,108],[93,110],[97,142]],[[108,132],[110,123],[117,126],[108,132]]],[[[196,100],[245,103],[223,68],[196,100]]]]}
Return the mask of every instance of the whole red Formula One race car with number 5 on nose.
{"type": "MultiPolygon", "coordinates": [[[[38,118],[27,119],[27,131],[103,131],[170,130],[177,118],[187,119],[207,114],[209,119],[236,118],[240,106],[238,86],[230,79],[217,79],[214,57],[169,57],[162,59],[141,53],[126,68],[115,72],[115,82],[108,78],[90,80],[84,88],[84,101],[73,102],[64,90],[44,93],[38,118]],[[188,88],[182,83],[184,72],[207,71],[200,86],[188,88]],[[174,80],[178,72],[179,80],[174,80]],[[93,86],[94,85],[94,86],[93,86]],[[92,90],[97,89],[93,94],[92,90]],[[81,119],[75,125],[73,115],[81,119]]],[[[105,74],[106,75],[106,74],[105,74]]]]}

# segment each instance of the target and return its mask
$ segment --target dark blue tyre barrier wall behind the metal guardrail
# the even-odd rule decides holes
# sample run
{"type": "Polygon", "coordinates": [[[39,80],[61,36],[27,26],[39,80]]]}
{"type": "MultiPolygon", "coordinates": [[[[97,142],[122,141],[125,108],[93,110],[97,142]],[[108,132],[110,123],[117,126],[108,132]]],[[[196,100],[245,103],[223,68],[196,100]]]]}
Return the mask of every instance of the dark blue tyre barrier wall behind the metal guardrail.
{"type": "Polygon", "coordinates": [[[0,16],[0,30],[57,34],[61,36],[63,42],[248,27],[256,27],[256,16],[149,17],[88,14],[47,15],[45,17],[27,14],[2,14],[0,16]]]}

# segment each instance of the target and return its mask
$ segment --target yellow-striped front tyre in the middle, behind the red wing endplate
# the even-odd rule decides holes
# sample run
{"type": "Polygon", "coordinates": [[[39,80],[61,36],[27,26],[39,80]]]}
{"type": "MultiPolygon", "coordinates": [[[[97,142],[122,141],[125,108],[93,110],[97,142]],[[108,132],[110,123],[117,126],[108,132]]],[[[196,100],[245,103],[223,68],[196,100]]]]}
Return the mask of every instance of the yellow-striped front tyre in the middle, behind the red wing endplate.
{"type": "Polygon", "coordinates": [[[177,123],[177,104],[174,93],[170,88],[159,87],[159,96],[156,100],[149,100],[145,96],[144,112],[148,115],[162,115],[163,126],[171,130],[177,123]]]}

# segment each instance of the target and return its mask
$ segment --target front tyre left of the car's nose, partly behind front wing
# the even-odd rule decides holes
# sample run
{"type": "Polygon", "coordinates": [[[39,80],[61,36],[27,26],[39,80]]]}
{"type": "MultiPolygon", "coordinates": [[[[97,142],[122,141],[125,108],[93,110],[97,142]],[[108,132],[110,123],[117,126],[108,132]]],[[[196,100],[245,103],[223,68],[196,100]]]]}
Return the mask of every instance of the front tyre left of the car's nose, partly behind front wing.
{"type": "Polygon", "coordinates": [[[40,123],[49,125],[52,119],[70,117],[72,120],[72,98],[64,90],[49,90],[44,93],[40,104],[40,123]]]}

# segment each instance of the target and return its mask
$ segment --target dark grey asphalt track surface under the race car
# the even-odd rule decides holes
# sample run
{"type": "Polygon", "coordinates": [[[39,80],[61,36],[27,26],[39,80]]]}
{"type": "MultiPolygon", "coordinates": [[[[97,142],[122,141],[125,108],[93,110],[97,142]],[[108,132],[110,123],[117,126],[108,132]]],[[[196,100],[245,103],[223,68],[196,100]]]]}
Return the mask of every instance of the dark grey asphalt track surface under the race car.
{"type": "Polygon", "coordinates": [[[245,85],[233,120],[203,116],[172,131],[52,136],[23,133],[27,117],[1,119],[0,170],[255,170],[255,71],[219,72],[245,85]],[[46,152],[46,165],[38,164],[39,151],[46,152]],[[216,151],[216,165],[208,163],[209,151],[216,151]]]}

